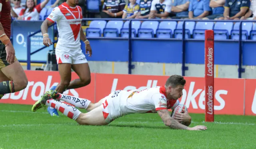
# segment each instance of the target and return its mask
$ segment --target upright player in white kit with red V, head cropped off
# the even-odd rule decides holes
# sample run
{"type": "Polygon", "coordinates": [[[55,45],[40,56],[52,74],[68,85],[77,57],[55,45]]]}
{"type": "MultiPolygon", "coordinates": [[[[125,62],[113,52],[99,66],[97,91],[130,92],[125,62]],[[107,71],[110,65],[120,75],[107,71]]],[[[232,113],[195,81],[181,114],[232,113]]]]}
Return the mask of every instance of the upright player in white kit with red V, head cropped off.
{"type": "MultiPolygon", "coordinates": [[[[82,53],[80,39],[84,41],[89,57],[92,55],[92,48],[82,30],[82,9],[80,6],[76,6],[77,4],[78,0],[67,0],[54,8],[41,25],[44,45],[49,46],[52,42],[47,33],[48,26],[57,22],[59,38],[55,53],[60,83],[58,86],[53,86],[51,90],[56,90],[59,93],[63,93],[67,89],[86,86],[91,81],[90,68],[84,53],[82,53]],[[79,79],[71,81],[71,68],[78,74],[79,79]]],[[[58,112],[54,108],[49,107],[48,112],[51,116],[58,116],[58,112]]]]}

